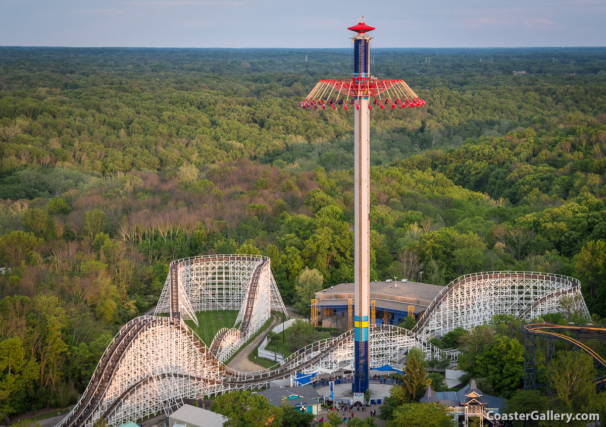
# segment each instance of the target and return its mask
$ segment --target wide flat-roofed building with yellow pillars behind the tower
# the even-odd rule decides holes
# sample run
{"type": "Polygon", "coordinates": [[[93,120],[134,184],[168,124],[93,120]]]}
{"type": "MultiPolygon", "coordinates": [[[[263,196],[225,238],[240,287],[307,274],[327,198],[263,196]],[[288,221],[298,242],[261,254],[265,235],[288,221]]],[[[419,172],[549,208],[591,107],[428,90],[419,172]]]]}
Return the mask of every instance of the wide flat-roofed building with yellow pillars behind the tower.
{"type": "MultiPolygon", "coordinates": [[[[370,307],[376,324],[398,325],[407,316],[415,320],[427,309],[443,286],[409,280],[370,282],[370,307]]],[[[353,310],[354,284],[340,283],[316,292],[318,324],[324,328],[344,328],[353,310]]],[[[372,316],[372,313],[371,313],[372,316]]]]}

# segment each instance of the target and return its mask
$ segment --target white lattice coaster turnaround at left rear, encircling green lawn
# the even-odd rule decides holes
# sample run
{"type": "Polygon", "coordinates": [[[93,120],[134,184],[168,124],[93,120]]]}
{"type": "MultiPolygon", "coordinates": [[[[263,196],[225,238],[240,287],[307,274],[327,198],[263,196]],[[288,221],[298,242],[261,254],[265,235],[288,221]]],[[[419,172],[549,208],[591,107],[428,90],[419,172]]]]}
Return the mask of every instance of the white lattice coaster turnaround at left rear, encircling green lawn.
{"type": "Polygon", "coordinates": [[[198,325],[200,311],[239,310],[233,328],[221,329],[210,343],[211,352],[224,361],[262,328],[272,309],[288,317],[268,257],[210,255],[170,263],[155,315],[198,325]]]}

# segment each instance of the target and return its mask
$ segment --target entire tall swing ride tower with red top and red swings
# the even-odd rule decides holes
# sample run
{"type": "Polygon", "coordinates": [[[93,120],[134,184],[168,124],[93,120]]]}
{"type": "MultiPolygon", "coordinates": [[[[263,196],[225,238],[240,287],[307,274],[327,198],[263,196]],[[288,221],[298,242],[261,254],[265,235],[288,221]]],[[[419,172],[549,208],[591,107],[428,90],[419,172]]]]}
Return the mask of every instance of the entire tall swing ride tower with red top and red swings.
{"type": "Polygon", "coordinates": [[[355,377],[353,392],[368,389],[368,331],[370,320],[370,111],[422,107],[419,99],[403,80],[376,79],[370,74],[369,31],[375,27],[365,24],[364,16],[358,24],[348,27],[355,31],[353,43],[353,73],[350,79],[321,80],[299,107],[308,110],[337,111],[353,108],[354,133],[354,353],[355,377]]]}

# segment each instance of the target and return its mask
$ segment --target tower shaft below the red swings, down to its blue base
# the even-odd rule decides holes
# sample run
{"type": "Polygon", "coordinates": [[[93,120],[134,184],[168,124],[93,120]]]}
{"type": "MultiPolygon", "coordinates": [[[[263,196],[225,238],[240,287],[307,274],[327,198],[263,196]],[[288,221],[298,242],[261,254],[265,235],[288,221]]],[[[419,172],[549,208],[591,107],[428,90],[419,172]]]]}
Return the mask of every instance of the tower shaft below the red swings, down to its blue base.
{"type": "Polygon", "coordinates": [[[368,97],[355,98],[360,109],[354,110],[354,195],[355,195],[355,380],[353,391],[368,388],[370,357],[368,323],[370,322],[370,110],[368,97]]]}

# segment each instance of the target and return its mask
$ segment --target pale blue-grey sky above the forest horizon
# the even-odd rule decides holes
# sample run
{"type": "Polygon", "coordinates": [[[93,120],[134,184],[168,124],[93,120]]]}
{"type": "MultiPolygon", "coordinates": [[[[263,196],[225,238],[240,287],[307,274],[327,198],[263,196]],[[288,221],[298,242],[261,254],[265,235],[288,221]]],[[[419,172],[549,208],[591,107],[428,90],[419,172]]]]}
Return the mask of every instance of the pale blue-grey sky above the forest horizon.
{"type": "Polygon", "coordinates": [[[605,46],[606,0],[0,0],[0,45],[349,47],[605,46]]]}

